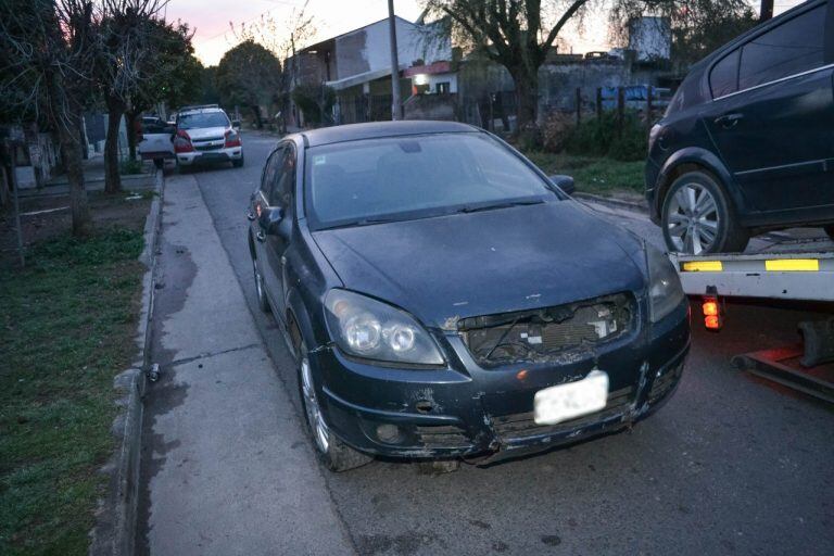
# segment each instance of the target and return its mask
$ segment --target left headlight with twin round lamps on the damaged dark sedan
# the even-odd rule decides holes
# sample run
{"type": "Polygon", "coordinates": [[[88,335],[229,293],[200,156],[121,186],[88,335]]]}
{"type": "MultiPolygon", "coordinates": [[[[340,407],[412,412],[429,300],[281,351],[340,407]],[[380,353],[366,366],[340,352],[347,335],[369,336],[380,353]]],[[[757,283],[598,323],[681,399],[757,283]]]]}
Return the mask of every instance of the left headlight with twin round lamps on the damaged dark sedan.
{"type": "Polygon", "coordinates": [[[325,315],[336,343],[345,353],[388,363],[444,363],[431,334],[396,307],[333,289],[325,299],[325,315]]]}

